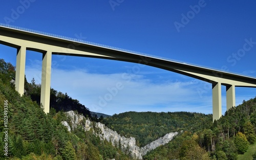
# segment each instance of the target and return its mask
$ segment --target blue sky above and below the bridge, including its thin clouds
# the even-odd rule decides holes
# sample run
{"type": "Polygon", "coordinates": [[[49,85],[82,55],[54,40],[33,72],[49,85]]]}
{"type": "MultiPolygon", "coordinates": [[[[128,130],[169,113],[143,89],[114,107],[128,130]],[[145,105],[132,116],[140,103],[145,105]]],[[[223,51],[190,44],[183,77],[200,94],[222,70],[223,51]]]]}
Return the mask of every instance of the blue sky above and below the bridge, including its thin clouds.
{"type": "MultiPolygon", "coordinates": [[[[256,77],[256,2],[3,0],[0,22],[256,77]]],[[[15,65],[16,50],[0,45],[15,65]]],[[[27,52],[40,83],[42,55],[27,52]]],[[[209,83],[151,66],[53,55],[51,86],[91,111],[212,112],[209,83]],[[118,89],[115,89],[118,88],[118,89]]],[[[256,88],[236,87],[236,103],[256,88]]],[[[222,111],[226,110],[222,87],[222,111]]]]}

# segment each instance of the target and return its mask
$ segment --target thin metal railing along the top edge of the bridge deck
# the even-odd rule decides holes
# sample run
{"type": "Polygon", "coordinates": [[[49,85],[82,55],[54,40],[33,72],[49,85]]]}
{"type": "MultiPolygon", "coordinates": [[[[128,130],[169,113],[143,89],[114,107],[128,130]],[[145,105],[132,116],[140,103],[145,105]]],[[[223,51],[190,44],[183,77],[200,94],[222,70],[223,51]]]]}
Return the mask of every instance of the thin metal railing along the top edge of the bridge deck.
{"type": "MultiPolygon", "coordinates": [[[[57,34],[52,34],[52,33],[47,33],[47,32],[42,32],[42,31],[37,31],[37,30],[32,30],[32,29],[27,29],[27,28],[23,28],[23,27],[12,26],[12,25],[3,24],[3,23],[0,23],[0,26],[6,27],[6,28],[15,29],[15,30],[20,30],[20,31],[25,31],[25,32],[40,34],[40,35],[44,35],[44,36],[50,36],[50,37],[54,37],[54,38],[60,38],[60,39],[65,39],[65,40],[74,41],[74,42],[85,43],[85,44],[89,44],[89,45],[94,45],[94,46],[96,46],[96,47],[102,47],[102,48],[106,48],[106,49],[112,49],[112,50],[117,50],[117,51],[123,51],[123,52],[131,53],[131,54],[136,54],[136,55],[141,55],[141,56],[146,56],[146,57],[151,57],[151,58],[157,58],[157,59],[162,59],[162,60],[167,60],[167,61],[182,63],[182,64],[187,64],[187,65],[196,66],[196,67],[201,67],[201,68],[207,68],[207,69],[210,69],[210,70],[215,70],[215,71],[220,71],[220,72],[226,72],[226,71],[222,71],[222,70],[220,70],[220,69],[218,69],[218,68],[215,68],[215,67],[209,67],[209,66],[205,66],[205,65],[200,65],[200,64],[195,64],[195,63],[180,61],[180,60],[176,60],[176,59],[172,59],[172,58],[166,58],[166,57],[162,57],[162,56],[156,56],[156,55],[141,53],[141,52],[137,52],[137,51],[121,49],[121,48],[113,47],[113,46],[110,46],[110,45],[105,45],[105,44],[90,42],[90,41],[86,41],[86,40],[82,40],[82,39],[77,39],[77,38],[71,38],[71,37],[61,36],[61,35],[57,35],[57,34]]],[[[242,74],[236,73],[236,72],[230,72],[230,71],[229,71],[229,72],[226,72],[226,73],[231,73],[231,74],[236,74],[236,75],[241,75],[241,76],[247,76],[247,77],[255,78],[255,77],[248,76],[248,75],[242,75],[242,74]]]]}

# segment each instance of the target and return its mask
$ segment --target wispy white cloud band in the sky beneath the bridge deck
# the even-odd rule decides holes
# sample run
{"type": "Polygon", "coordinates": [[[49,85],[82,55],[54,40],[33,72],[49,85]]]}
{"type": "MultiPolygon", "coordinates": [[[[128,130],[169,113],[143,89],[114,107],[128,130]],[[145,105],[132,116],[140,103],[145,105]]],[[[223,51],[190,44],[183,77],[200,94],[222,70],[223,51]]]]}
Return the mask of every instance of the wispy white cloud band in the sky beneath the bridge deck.
{"type": "MultiPolygon", "coordinates": [[[[40,83],[39,61],[26,67],[26,76],[40,83]]],[[[109,115],[125,111],[190,111],[212,113],[211,85],[196,79],[178,76],[175,80],[160,82],[150,79],[150,71],[132,73],[100,74],[87,70],[52,69],[51,87],[68,93],[91,111],[109,115]]],[[[225,90],[222,96],[222,112],[226,110],[225,90]]],[[[237,96],[238,97],[238,96],[237,96]]],[[[246,96],[245,96],[246,97],[246,96]]],[[[237,98],[239,103],[240,98],[237,98]]],[[[240,102],[241,103],[241,102],[240,102]]]]}

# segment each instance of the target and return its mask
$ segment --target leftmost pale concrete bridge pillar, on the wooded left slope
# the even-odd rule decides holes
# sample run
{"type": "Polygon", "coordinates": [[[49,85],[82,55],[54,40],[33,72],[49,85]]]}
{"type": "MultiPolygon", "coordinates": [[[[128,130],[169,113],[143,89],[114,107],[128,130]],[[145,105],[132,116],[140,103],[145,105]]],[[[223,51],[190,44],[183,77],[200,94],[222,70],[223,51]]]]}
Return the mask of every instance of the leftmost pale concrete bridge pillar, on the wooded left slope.
{"type": "Polygon", "coordinates": [[[21,96],[24,95],[25,63],[26,63],[26,47],[20,47],[17,49],[17,56],[16,56],[15,89],[21,96]]]}

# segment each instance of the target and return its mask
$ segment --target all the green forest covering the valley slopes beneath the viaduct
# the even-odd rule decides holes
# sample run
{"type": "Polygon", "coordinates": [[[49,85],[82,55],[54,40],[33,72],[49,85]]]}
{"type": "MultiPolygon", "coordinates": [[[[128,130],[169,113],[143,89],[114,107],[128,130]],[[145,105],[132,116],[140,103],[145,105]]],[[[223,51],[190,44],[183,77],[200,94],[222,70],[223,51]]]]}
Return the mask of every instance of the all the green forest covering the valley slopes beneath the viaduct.
{"type": "Polygon", "coordinates": [[[0,159],[7,157],[6,141],[9,159],[132,159],[82,126],[69,132],[61,124],[70,123],[65,114],[69,110],[100,121],[121,135],[134,136],[140,147],[168,132],[180,131],[174,140],[147,153],[143,159],[148,160],[238,159],[238,154],[256,141],[256,98],[229,109],[214,123],[212,115],[195,112],[131,111],[97,119],[78,100],[53,88],[50,113],[45,114],[39,103],[40,85],[26,80],[25,94],[20,96],[14,79],[15,67],[0,59],[0,159]]]}

